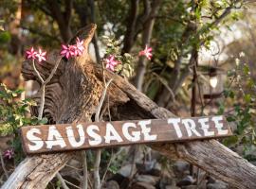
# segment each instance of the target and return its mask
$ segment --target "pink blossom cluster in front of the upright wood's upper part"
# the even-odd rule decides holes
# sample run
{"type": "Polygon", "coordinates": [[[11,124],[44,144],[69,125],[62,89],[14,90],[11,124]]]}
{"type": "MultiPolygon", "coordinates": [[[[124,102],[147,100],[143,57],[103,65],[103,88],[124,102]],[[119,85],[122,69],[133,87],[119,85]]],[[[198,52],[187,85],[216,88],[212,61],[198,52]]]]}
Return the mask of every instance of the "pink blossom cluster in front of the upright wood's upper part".
{"type": "Polygon", "coordinates": [[[64,56],[66,59],[69,59],[70,57],[81,56],[84,50],[84,46],[82,44],[83,41],[80,41],[79,38],[77,38],[76,44],[62,44],[63,49],[61,51],[61,55],[64,56]]]}

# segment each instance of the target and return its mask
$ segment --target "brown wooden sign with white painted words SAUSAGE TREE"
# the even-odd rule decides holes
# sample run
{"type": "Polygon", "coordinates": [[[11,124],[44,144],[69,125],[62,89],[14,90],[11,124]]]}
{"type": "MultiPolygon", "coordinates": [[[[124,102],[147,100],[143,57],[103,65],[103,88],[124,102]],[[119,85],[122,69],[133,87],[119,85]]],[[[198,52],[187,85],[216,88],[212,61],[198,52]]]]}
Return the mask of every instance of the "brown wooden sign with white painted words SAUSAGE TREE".
{"type": "Polygon", "coordinates": [[[160,142],[184,142],[230,136],[224,116],[148,119],[21,128],[27,154],[126,146],[160,142]]]}

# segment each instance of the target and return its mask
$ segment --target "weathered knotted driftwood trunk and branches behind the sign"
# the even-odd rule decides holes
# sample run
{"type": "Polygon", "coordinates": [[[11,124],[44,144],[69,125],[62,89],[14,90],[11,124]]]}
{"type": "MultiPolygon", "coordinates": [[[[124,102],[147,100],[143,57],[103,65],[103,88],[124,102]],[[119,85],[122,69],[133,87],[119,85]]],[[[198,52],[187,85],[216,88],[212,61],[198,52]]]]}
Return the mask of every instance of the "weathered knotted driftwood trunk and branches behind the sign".
{"type": "MultiPolygon", "coordinates": [[[[86,51],[78,59],[63,59],[56,75],[46,86],[44,114],[50,123],[94,121],[94,113],[103,89],[101,66],[94,63],[87,54],[88,43],[95,29],[95,25],[90,25],[77,34],[84,39],[86,51]]],[[[43,77],[49,75],[56,60],[56,54],[52,53],[48,62],[37,65],[43,77]]],[[[23,62],[22,73],[26,80],[38,80],[32,72],[31,62],[27,60],[23,62]]],[[[124,78],[106,72],[106,78],[111,77],[114,77],[114,81],[108,95],[112,120],[164,119],[175,116],[172,112],[158,107],[124,78]]],[[[39,96],[40,92],[35,96],[37,101],[39,96]]],[[[36,110],[32,111],[35,115],[36,110]]],[[[104,112],[106,109],[102,110],[104,112]]],[[[107,117],[103,113],[105,120],[107,117]]],[[[180,158],[204,169],[213,177],[228,182],[232,188],[256,188],[256,167],[215,140],[151,147],[167,157],[180,158]]],[[[2,188],[46,188],[47,183],[74,155],[76,153],[69,152],[27,157],[2,188]]]]}

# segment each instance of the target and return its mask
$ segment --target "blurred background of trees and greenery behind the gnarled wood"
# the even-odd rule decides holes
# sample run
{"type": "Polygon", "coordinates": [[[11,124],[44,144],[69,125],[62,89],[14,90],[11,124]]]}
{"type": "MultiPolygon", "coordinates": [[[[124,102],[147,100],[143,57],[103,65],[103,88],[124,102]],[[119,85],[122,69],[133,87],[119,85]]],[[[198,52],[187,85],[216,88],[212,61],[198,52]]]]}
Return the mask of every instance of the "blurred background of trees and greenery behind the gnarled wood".
{"type": "MultiPolygon", "coordinates": [[[[105,54],[103,35],[115,37],[123,54],[137,55],[146,44],[151,46],[152,60],[135,60],[130,81],[137,89],[179,116],[225,114],[235,123],[236,135],[222,142],[256,161],[254,0],[0,0],[0,83],[12,91],[24,89],[21,99],[31,97],[38,88],[21,76],[25,51],[31,46],[59,49],[90,23],[98,26],[89,48],[96,63],[105,54]]],[[[141,148],[136,153],[138,173],[140,166],[147,168],[142,159],[158,172],[137,173],[151,177],[134,177],[150,186],[133,188],[189,188],[195,182],[194,188],[228,188],[198,170],[203,179],[195,179],[188,163],[170,162],[141,148]]],[[[115,168],[115,173],[130,177],[124,173],[130,163],[115,164],[109,178],[117,175],[115,168]]]]}

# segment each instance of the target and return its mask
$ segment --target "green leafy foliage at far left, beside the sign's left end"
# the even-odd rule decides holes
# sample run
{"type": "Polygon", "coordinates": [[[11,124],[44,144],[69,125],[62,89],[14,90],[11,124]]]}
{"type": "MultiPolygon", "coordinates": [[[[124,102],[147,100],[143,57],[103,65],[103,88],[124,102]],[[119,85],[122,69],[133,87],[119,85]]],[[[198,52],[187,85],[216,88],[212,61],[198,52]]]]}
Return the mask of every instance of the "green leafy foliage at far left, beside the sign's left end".
{"type": "Polygon", "coordinates": [[[19,99],[23,90],[10,91],[4,84],[0,86],[0,134],[13,136],[11,146],[14,148],[15,161],[20,162],[24,154],[18,129],[27,125],[46,124],[47,120],[29,116],[28,108],[36,104],[31,99],[19,99]]]}

